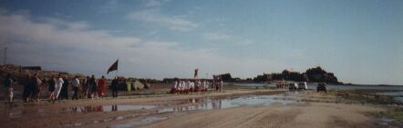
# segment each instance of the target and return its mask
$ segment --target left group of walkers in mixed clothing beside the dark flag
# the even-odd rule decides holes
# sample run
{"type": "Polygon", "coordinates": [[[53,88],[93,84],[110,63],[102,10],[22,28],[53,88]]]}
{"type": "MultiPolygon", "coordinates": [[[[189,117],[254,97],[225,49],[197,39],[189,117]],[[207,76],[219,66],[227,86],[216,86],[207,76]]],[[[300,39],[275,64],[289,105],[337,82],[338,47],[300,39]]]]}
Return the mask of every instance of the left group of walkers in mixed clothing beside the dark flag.
{"type": "MultiPolygon", "coordinates": [[[[5,94],[9,103],[13,102],[13,84],[15,79],[11,74],[7,74],[5,78],[5,94]]],[[[112,89],[112,96],[118,97],[118,77],[112,80],[110,88],[112,89]]],[[[40,101],[41,94],[43,94],[42,88],[47,87],[47,100],[54,102],[63,99],[69,99],[68,90],[73,91],[71,97],[72,100],[78,100],[79,98],[91,98],[96,97],[103,98],[105,96],[107,79],[102,76],[101,79],[96,79],[94,75],[91,77],[80,79],[79,76],[75,76],[72,79],[68,79],[67,75],[58,74],[52,76],[50,79],[41,78],[39,74],[26,74],[26,79],[22,81],[24,85],[24,91],[22,94],[24,102],[38,102],[40,101]]]]}

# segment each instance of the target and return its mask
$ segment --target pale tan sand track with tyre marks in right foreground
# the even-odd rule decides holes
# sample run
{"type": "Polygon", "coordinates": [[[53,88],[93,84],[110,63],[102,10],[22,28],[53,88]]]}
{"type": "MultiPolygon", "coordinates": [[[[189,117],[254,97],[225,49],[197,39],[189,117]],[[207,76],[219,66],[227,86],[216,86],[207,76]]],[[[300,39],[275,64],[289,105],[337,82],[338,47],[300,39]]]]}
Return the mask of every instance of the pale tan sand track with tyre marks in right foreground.
{"type": "Polygon", "coordinates": [[[385,127],[369,114],[378,111],[383,109],[335,103],[245,106],[191,113],[143,127],[385,127]]]}

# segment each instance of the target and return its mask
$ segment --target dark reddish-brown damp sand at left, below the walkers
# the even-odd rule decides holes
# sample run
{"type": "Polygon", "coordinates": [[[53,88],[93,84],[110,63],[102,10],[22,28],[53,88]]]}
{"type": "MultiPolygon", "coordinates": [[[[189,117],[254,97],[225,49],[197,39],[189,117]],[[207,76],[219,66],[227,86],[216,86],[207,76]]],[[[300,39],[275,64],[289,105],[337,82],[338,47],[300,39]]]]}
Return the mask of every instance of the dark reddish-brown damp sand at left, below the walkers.
{"type": "MultiPolygon", "coordinates": [[[[2,127],[91,127],[144,119],[186,105],[185,99],[243,94],[276,94],[273,90],[227,90],[225,93],[160,94],[118,99],[78,100],[57,103],[0,104],[2,127]],[[157,108],[158,106],[158,108],[157,108]]],[[[281,91],[280,91],[281,92],[281,91]]]]}

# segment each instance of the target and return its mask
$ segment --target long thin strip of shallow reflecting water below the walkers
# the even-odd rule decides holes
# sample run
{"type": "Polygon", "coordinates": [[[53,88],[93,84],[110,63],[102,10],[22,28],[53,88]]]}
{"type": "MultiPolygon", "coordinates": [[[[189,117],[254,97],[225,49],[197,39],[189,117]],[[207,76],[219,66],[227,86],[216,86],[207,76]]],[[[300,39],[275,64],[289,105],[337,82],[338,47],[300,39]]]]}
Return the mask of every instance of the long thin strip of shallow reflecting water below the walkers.
{"type": "Polygon", "coordinates": [[[271,104],[287,104],[293,101],[282,100],[284,95],[243,95],[229,97],[199,97],[182,99],[172,102],[168,105],[138,105],[138,104],[113,104],[113,105],[86,105],[66,107],[61,109],[26,109],[13,108],[5,110],[11,118],[21,117],[26,115],[51,115],[51,114],[70,114],[70,113],[99,113],[99,112],[117,112],[117,111],[133,111],[141,109],[155,109],[158,113],[167,112],[187,112],[194,110],[212,110],[237,107],[243,105],[271,105],[271,104]],[[280,97],[280,98],[279,98],[280,97]]]}

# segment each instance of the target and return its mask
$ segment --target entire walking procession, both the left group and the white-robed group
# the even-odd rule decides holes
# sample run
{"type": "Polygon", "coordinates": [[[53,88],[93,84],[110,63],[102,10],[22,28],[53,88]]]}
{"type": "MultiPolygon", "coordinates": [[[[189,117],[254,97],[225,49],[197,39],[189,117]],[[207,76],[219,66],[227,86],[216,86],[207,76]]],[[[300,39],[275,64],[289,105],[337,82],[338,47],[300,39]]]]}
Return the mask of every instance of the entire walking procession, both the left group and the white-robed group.
{"type": "MultiPolygon", "coordinates": [[[[20,81],[20,80],[19,80],[20,81]]],[[[119,82],[122,82],[118,77],[115,77],[109,87],[112,90],[112,97],[118,97],[119,82]]],[[[15,78],[11,74],[7,74],[5,85],[5,97],[9,103],[13,102],[14,98],[14,83],[15,78]]],[[[41,77],[39,74],[26,74],[25,79],[18,82],[22,84],[24,89],[22,92],[22,99],[24,102],[39,102],[41,98],[47,99],[49,102],[60,100],[78,100],[78,99],[95,99],[104,98],[108,87],[108,82],[105,76],[96,79],[95,75],[80,77],[68,77],[67,74],[57,74],[50,78],[41,77]],[[47,89],[43,90],[43,89],[47,89]],[[69,97],[69,91],[71,98],[69,97]],[[46,94],[47,93],[47,94],[46,94]],[[44,96],[47,95],[47,96],[44,96]]],[[[212,91],[222,92],[222,80],[213,79],[208,80],[180,80],[174,79],[171,85],[171,94],[191,94],[191,93],[205,93],[211,88],[212,91]]]]}

